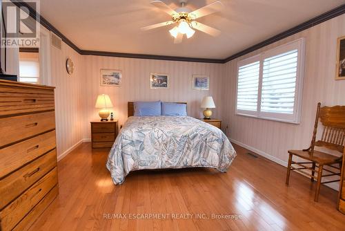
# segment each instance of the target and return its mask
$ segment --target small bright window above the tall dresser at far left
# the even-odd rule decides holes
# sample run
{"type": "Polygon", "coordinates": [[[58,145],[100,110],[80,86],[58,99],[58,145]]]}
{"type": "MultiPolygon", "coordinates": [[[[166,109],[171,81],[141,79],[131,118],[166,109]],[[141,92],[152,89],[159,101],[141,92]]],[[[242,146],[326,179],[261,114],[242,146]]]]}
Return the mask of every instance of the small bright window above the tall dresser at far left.
{"type": "Polygon", "coordinates": [[[19,81],[39,84],[39,53],[24,50],[19,52],[19,81]]]}

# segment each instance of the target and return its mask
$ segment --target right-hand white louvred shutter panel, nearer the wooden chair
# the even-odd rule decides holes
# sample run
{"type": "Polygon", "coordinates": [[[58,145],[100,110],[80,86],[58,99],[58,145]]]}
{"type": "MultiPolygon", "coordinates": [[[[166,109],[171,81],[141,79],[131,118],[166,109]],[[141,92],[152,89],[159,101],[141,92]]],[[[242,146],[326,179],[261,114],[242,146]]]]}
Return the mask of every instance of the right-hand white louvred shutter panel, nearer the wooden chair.
{"type": "Polygon", "coordinates": [[[261,111],[294,113],[297,59],[297,49],[264,59],[261,111]]]}

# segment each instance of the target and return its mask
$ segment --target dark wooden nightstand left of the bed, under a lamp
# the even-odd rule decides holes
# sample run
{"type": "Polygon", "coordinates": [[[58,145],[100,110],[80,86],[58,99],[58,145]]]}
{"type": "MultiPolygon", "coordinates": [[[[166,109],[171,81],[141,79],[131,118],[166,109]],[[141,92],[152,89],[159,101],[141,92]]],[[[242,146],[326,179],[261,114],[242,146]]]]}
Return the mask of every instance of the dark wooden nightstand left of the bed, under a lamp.
{"type": "Polygon", "coordinates": [[[117,136],[117,120],[91,122],[92,148],[112,147],[117,136]]]}

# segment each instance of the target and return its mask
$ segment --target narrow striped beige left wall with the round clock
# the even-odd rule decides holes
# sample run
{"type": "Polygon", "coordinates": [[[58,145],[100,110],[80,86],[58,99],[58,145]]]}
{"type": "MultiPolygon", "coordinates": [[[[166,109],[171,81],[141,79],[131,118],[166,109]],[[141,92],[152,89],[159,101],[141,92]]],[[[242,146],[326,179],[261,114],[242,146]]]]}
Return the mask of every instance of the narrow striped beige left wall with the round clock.
{"type": "Polygon", "coordinates": [[[83,139],[83,117],[85,91],[83,91],[83,56],[70,46],[62,44],[61,50],[51,47],[51,82],[55,89],[55,111],[57,131],[57,155],[62,158],[83,139]],[[66,59],[75,64],[72,75],[66,72],[66,59]]]}

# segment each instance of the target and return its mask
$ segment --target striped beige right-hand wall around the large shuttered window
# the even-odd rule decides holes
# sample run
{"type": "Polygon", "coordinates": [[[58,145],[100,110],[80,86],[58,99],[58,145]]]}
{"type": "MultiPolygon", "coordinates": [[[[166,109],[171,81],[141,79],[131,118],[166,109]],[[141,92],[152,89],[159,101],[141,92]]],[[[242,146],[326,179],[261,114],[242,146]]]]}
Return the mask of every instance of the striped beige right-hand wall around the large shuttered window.
{"type": "Polygon", "coordinates": [[[324,105],[345,104],[345,81],[335,80],[337,37],[345,35],[345,15],[304,30],[265,48],[239,57],[226,65],[224,118],[230,124],[230,138],[277,163],[286,165],[288,149],[308,147],[313,131],[317,102],[324,105]],[[306,63],[301,124],[288,124],[235,115],[237,61],[288,41],[306,38],[306,63]]]}

